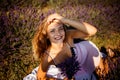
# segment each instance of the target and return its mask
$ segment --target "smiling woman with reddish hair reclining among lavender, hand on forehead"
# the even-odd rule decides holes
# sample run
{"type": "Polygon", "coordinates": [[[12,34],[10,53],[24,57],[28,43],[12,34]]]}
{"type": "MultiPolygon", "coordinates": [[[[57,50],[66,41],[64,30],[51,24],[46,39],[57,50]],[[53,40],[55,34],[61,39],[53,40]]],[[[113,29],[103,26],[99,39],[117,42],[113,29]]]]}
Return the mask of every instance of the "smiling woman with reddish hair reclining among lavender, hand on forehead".
{"type": "Polygon", "coordinates": [[[34,57],[40,59],[37,79],[95,79],[92,73],[100,61],[99,50],[90,41],[75,43],[75,39],[85,40],[96,32],[97,29],[88,23],[76,22],[57,13],[44,19],[32,40],[34,57]],[[75,29],[66,29],[64,25],[75,29]]]}

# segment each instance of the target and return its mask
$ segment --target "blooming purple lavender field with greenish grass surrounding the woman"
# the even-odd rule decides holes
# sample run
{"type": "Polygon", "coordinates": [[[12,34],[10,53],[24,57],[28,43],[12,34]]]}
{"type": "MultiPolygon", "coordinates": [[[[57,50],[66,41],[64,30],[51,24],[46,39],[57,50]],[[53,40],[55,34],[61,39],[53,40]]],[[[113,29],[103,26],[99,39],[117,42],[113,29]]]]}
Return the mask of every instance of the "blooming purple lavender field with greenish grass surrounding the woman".
{"type": "Polygon", "coordinates": [[[22,80],[38,66],[31,40],[40,22],[54,12],[96,26],[90,40],[115,54],[104,61],[109,71],[98,73],[98,80],[119,80],[119,0],[0,0],[0,80],[22,80]]]}

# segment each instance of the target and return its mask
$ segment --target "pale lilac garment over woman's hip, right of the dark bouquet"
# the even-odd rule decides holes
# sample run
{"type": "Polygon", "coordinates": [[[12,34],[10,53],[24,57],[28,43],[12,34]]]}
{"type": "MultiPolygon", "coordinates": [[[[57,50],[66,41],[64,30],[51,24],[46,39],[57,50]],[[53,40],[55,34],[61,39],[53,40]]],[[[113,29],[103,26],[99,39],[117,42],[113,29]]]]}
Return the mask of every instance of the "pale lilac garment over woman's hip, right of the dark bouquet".
{"type": "Polygon", "coordinates": [[[74,51],[80,70],[74,74],[75,80],[96,80],[93,71],[100,63],[100,51],[91,41],[75,44],[74,51]]]}

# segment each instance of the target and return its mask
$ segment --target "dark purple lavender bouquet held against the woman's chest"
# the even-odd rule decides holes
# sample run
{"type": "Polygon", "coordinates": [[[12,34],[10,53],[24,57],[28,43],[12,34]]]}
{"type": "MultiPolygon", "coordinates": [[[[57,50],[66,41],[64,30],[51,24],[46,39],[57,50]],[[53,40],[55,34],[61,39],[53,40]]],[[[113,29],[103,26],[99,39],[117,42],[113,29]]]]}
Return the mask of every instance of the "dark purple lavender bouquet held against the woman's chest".
{"type": "Polygon", "coordinates": [[[73,48],[71,47],[72,57],[66,59],[64,62],[56,65],[57,67],[61,68],[63,74],[68,77],[68,79],[72,79],[74,74],[80,70],[79,62],[76,61],[76,56],[74,53],[73,48]]]}

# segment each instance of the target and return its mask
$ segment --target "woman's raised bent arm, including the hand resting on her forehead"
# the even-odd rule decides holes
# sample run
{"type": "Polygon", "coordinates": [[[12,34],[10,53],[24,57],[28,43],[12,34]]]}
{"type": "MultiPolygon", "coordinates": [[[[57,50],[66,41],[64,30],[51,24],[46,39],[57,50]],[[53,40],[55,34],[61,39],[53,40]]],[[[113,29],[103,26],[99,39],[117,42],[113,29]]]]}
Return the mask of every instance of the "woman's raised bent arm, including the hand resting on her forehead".
{"type": "Polygon", "coordinates": [[[97,29],[94,26],[86,22],[77,22],[74,20],[70,20],[70,19],[60,16],[57,13],[50,15],[47,21],[50,23],[53,20],[59,20],[63,24],[67,24],[67,25],[70,25],[76,28],[76,30],[71,30],[68,32],[72,36],[72,38],[84,38],[85,39],[85,38],[88,38],[89,36],[94,35],[97,32],[97,29]]]}

